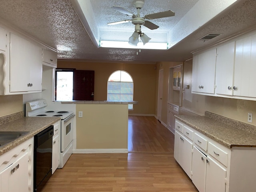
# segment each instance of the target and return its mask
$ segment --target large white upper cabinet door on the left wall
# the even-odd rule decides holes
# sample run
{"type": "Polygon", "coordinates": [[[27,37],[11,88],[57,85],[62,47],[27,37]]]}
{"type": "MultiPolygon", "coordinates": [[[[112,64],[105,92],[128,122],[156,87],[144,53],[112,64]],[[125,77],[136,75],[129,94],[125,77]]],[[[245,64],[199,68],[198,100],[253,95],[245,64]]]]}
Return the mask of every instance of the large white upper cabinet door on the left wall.
{"type": "Polygon", "coordinates": [[[42,48],[10,34],[10,93],[41,92],[42,48]]]}

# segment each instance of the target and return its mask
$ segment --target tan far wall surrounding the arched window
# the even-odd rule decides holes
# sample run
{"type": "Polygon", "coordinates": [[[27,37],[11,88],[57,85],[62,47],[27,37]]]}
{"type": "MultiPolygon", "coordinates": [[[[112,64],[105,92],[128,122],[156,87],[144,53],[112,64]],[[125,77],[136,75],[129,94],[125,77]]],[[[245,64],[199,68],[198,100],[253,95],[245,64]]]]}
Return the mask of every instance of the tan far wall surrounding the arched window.
{"type": "Polygon", "coordinates": [[[58,61],[58,68],[94,70],[94,100],[107,99],[108,77],[116,70],[125,70],[134,80],[134,110],[129,114],[152,115],[155,111],[156,72],[154,64],[90,63],[58,61]]]}

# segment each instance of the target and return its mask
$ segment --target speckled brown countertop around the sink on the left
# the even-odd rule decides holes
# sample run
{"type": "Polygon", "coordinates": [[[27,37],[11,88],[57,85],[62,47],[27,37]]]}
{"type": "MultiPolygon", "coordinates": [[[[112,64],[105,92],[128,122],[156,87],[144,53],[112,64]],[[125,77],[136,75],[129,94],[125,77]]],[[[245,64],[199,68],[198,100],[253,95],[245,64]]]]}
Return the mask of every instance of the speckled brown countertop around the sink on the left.
{"type": "Polygon", "coordinates": [[[0,131],[28,131],[28,134],[0,147],[0,155],[28,140],[50,125],[60,120],[60,117],[21,117],[0,125],[0,131]]]}

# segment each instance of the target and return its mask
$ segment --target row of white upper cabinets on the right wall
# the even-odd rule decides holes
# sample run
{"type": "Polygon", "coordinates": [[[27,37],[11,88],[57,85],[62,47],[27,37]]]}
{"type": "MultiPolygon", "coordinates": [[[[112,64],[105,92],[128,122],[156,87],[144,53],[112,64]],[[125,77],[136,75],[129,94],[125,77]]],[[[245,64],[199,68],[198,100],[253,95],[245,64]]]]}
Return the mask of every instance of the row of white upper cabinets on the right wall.
{"type": "Polygon", "coordinates": [[[255,71],[256,31],[253,31],[193,55],[192,93],[256,100],[255,71]]]}

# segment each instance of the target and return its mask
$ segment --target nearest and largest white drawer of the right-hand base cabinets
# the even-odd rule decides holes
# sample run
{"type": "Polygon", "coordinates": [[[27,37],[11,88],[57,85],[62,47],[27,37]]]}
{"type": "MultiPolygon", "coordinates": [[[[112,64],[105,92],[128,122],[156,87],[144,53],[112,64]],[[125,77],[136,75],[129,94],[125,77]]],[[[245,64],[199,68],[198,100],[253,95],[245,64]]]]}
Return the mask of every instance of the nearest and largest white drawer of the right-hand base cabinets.
{"type": "Polygon", "coordinates": [[[228,165],[228,153],[218,148],[211,142],[208,144],[208,153],[213,156],[216,160],[221,162],[224,166],[228,165]]]}

